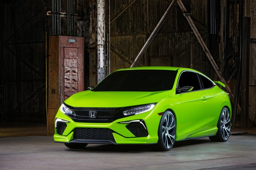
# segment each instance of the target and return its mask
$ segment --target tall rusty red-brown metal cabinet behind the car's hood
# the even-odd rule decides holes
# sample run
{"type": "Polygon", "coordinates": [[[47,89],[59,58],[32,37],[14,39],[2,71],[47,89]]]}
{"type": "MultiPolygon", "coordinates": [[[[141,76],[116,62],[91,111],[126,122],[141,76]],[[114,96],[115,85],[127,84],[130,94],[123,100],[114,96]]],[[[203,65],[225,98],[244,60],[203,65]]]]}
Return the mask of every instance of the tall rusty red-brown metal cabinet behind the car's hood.
{"type": "Polygon", "coordinates": [[[81,37],[50,36],[48,67],[47,130],[54,130],[54,117],[64,99],[84,90],[84,41],[81,37]],[[57,45],[56,45],[57,44],[57,45]],[[57,49],[55,49],[57,47],[57,49]],[[52,49],[53,48],[53,49],[52,49]]]}

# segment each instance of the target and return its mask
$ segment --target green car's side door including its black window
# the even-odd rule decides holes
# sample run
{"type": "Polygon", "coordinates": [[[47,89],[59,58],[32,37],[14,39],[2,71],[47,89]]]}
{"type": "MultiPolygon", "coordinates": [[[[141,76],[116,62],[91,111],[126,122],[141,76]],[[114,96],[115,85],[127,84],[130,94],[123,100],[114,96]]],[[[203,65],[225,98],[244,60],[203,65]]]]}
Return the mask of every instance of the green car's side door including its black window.
{"type": "MultiPolygon", "coordinates": [[[[177,88],[192,86],[192,91],[176,91],[176,99],[179,110],[179,132],[196,133],[207,127],[209,104],[207,93],[202,89],[199,76],[193,71],[183,71],[180,74],[177,88]]],[[[176,89],[177,89],[176,88],[176,89]]]]}

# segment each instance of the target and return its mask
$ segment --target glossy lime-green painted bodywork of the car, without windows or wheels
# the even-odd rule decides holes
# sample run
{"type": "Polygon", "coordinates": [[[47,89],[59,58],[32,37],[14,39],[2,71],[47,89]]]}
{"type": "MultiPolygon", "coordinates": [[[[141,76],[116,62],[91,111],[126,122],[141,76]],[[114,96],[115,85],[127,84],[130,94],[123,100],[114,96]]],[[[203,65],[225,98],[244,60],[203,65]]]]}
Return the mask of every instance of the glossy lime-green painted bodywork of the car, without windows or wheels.
{"type": "MultiPolygon", "coordinates": [[[[157,130],[162,113],[170,110],[175,114],[177,129],[176,141],[198,138],[204,136],[212,136],[217,132],[217,122],[221,109],[227,107],[231,116],[230,100],[226,92],[221,90],[217,85],[211,89],[191,91],[183,94],[176,94],[177,82],[179,75],[183,71],[198,71],[189,68],[175,67],[137,67],[126,68],[123,70],[140,70],[140,69],[156,69],[156,70],[177,70],[174,87],[169,91],[159,92],[94,92],[83,91],[74,94],[64,102],[73,107],[98,107],[98,108],[114,108],[126,107],[134,105],[143,105],[149,103],[157,103],[151,111],[117,119],[111,123],[79,123],[61,113],[59,110],[56,119],[68,121],[67,128],[63,135],[58,135],[55,129],[55,142],[70,142],[73,139],[73,129],[75,127],[94,127],[109,128],[116,133],[113,136],[117,144],[150,144],[157,143],[157,130]],[[85,104],[86,103],[86,104],[85,104]],[[198,112],[201,109],[202,112],[198,112]],[[131,120],[143,119],[147,129],[147,137],[135,137],[125,126],[119,122],[128,122],[131,120]]],[[[204,75],[204,74],[202,74],[204,75]]],[[[205,75],[204,75],[205,76],[205,75]]]]}

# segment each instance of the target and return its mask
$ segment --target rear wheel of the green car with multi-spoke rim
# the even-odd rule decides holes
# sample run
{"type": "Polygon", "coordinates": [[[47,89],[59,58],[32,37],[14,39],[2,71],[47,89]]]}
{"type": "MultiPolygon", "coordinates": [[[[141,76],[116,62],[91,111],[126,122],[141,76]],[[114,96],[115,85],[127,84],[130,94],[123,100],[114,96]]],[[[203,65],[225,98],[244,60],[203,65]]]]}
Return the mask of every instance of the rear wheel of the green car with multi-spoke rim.
{"type": "Polygon", "coordinates": [[[218,119],[218,131],[215,136],[209,136],[209,139],[214,142],[226,142],[230,136],[230,112],[227,108],[222,108],[221,115],[218,119]]]}

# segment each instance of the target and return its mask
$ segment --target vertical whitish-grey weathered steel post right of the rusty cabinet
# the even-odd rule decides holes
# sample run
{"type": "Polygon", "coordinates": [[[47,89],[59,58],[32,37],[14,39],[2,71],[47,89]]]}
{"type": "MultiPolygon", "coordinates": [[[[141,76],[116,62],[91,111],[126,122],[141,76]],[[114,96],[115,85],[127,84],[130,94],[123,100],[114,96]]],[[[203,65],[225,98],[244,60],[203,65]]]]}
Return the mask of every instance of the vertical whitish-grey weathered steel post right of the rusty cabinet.
{"type": "Polygon", "coordinates": [[[105,67],[105,0],[97,0],[97,82],[106,76],[105,67]]]}

